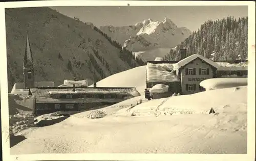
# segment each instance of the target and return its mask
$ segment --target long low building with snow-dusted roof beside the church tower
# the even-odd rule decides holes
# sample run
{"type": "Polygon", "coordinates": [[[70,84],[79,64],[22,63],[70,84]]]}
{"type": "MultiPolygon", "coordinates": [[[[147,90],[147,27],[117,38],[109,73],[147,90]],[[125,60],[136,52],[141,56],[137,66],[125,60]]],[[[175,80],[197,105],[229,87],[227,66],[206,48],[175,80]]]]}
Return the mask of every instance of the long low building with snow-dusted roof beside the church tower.
{"type": "Polygon", "coordinates": [[[35,116],[57,111],[89,110],[140,95],[135,88],[106,87],[45,87],[31,88],[30,92],[35,96],[35,116]]]}

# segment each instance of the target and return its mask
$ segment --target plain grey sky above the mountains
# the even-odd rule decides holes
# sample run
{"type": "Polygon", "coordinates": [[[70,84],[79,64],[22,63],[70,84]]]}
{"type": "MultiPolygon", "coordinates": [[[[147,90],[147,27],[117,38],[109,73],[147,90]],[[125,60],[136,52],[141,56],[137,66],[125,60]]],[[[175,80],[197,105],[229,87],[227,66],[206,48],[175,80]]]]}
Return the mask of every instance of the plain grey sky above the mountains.
{"type": "Polygon", "coordinates": [[[78,17],[83,22],[96,26],[132,25],[144,19],[162,21],[171,19],[178,27],[197,31],[201,24],[227,16],[248,16],[248,6],[68,6],[51,7],[69,17],[78,17]]]}

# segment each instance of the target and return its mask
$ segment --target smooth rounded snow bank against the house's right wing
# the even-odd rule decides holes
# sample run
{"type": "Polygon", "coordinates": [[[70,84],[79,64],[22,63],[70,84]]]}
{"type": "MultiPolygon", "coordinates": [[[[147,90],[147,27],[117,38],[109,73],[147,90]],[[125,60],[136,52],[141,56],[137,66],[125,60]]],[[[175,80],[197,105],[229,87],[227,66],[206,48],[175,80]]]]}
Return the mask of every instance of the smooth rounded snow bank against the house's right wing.
{"type": "Polygon", "coordinates": [[[212,78],[200,83],[206,90],[247,86],[247,78],[212,78]]]}

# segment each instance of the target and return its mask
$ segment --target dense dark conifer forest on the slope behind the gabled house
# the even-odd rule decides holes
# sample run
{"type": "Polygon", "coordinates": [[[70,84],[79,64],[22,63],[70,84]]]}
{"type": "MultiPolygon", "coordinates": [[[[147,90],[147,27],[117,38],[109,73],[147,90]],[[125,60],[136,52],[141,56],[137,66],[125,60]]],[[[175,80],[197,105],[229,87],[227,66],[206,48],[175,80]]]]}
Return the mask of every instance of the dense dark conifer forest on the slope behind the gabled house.
{"type": "Polygon", "coordinates": [[[187,56],[198,53],[215,61],[245,60],[248,54],[247,42],[248,17],[208,20],[197,32],[193,32],[181,42],[176,50],[170,49],[164,60],[179,60],[180,55],[177,51],[180,48],[187,49],[187,56]]]}

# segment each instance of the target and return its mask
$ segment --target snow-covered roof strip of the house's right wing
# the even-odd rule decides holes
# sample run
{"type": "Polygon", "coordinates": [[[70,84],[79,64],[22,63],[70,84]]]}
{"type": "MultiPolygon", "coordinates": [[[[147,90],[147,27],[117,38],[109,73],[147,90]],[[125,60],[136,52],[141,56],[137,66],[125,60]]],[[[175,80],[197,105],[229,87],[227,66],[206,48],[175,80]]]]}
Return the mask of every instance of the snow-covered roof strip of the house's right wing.
{"type": "Polygon", "coordinates": [[[238,64],[230,64],[226,62],[216,62],[220,65],[218,70],[247,70],[248,65],[247,62],[242,62],[238,64]]]}

